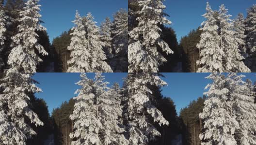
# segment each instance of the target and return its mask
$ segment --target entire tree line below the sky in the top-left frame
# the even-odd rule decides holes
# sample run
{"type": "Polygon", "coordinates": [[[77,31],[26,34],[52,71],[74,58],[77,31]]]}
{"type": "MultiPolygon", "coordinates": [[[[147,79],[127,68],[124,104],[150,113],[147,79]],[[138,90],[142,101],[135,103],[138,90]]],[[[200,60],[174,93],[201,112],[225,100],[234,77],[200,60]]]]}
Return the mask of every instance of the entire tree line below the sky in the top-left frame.
{"type": "MultiPolygon", "coordinates": [[[[65,35],[63,34],[60,38],[54,39],[51,45],[47,31],[41,25],[44,22],[40,19],[38,1],[0,1],[0,72],[7,70],[25,72],[22,70],[24,67],[33,69],[33,73],[67,72],[68,68],[72,66],[71,63],[84,66],[84,63],[87,62],[94,69],[78,71],[71,68],[71,70],[79,73],[128,71],[128,13],[126,10],[120,9],[115,13],[112,22],[106,18],[100,28],[95,25],[92,15],[82,17],[83,29],[77,31],[86,33],[84,33],[85,39],[80,39],[82,47],[72,45],[71,39],[76,37],[73,35],[75,34],[74,30],[68,32],[70,36],[67,40],[62,41],[62,37],[65,35]],[[28,13],[28,11],[32,13],[28,13]],[[70,50],[73,49],[75,54],[79,52],[75,48],[88,49],[89,55],[86,56],[86,60],[79,61],[76,57],[73,58],[72,51],[68,50],[68,46],[70,46],[70,50]],[[69,60],[70,64],[68,65],[69,60]],[[109,71],[106,71],[106,68],[109,71]]],[[[76,27],[77,25],[74,29],[76,27]]],[[[74,38],[74,41],[76,40],[77,38],[74,38]]],[[[86,54],[84,50],[82,55],[86,54]]],[[[82,58],[82,56],[77,57],[82,58]]]]}

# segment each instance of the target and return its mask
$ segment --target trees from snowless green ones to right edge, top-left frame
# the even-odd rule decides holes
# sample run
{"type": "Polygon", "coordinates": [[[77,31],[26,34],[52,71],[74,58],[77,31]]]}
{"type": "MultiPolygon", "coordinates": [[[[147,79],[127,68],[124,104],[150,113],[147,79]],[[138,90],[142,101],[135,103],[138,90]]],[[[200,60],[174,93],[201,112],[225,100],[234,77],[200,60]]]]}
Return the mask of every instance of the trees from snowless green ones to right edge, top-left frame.
{"type": "Polygon", "coordinates": [[[82,71],[79,72],[84,72],[85,67],[81,66],[90,66],[86,67],[85,71],[87,70],[88,72],[102,72],[102,70],[99,70],[99,68],[106,69],[109,65],[111,67],[111,69],[108,68],[109,71],[112,70],[114,72],[127,72],[127,19],[127,11],[124,9],[120,9],[118,12],[113,14],[113,21],[111,21],[110,18],[107,17],[98,28],[93,21],[92,15],[80,16],[79,14],[77,14],[76,20],[74,21],[75,27],[73,29],[70,29],[69,31],[65,31],[61,36],[53,39],[52,46],[55,51],[54,62],[56,71],[67,72],[68,68],[73,65],[73,71],[75,71],[74,68],[77,69],[80,67],[82,71]],[[79,36],[80,33],[84,34],[79,36]],[[95,39],[95,37],[97,38],[95,39]],[[82,43],[80,45],[73,43],[74,45],[72,45],[72,41],[79,41],[82,43]],[[94,47],[98,50],[96,51],[96,49],[93,49],[94,47]],[[82,54],[76,53],[79,52],[79,49],[83,50],[82,54]],[[91,49],[93,49],[94,51],[92,51],[91,49]],[[76,57],[84,58],[86,60],[84,60],[83,62],[74,61],[77,58],[72,55],[71,52],[76,53],[76,57]],[[90,58],[88,55],[93,56],[94,58],[90,58]],[[97,60],[96,58],[101,60],[97,60]],[[96,59],[96,61],[94,59],[96,59]],[[74,66],[73,62],[76,62],[77,64],[74,66]],[[88,64],[84,65],[83,63],[85,62],[88,64]],[[92,66],[100,66],[101,62],[104,63],[101,65],[101,67],[98,67],[98,69],[92,69],[92,66]],[[107,62],[107,64],[105,62],[107,62]]]}

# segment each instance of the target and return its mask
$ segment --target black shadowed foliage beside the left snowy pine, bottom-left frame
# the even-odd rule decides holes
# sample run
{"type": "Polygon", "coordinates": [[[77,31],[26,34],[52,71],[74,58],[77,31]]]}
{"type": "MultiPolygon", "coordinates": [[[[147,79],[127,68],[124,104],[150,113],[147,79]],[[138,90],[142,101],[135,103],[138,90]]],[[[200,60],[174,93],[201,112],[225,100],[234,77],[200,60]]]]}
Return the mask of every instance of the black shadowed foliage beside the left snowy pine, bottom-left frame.
{"type": "Polygon", "coordinates": [[[37,114],[39,119],[44,123],[44,126],[35,126],[30,124],[32,129],[36,132],[36,136],[32,139],[27,140],[26,145],[44,145],[44,141],[48,138],[53,131],[51,119],[48,112],[48,106],[43,99],[38,99],[34,94],[30,94],[30,104],[29,107],[34,113],[37,114]]]}

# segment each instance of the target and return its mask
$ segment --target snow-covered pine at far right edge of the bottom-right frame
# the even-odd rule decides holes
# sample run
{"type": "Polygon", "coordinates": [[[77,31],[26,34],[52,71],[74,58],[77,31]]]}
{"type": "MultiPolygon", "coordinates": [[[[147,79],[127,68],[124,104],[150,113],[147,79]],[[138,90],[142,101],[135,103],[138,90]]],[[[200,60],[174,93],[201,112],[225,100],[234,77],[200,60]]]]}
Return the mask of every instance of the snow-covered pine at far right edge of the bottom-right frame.
{"type": "Polygon", "coordinates": [[[226,85],[233,101],[233,116],[240,128],[235,133],[238,145],[256,145],[256,104],[252,84],[242,80],[244,75],[229,73],[226,85]]]}

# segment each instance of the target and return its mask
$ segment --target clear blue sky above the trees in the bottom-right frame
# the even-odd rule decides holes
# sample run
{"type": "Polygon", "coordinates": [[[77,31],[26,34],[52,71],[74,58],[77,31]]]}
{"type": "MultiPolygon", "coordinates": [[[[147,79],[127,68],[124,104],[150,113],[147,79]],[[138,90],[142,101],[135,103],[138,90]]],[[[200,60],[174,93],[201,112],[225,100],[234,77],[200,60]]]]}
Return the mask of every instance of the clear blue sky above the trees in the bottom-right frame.
{"type": "MultiPolygon", "coordinates": [[[[170,97],[179,114],[180,109],[189,105],[193,100],[202,97],[206,92],[205,87],[212,81],[205,79],[210,73],[162,73],[168,86],[162,88],[163,96],[170,97]]],[[[256,73],[238,73],[246,78],[256,81],[256,73]]],[[[245,78],[245,79],[246,79],[245,78]]]]}

